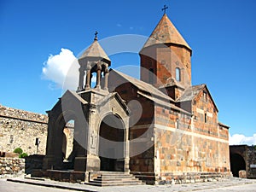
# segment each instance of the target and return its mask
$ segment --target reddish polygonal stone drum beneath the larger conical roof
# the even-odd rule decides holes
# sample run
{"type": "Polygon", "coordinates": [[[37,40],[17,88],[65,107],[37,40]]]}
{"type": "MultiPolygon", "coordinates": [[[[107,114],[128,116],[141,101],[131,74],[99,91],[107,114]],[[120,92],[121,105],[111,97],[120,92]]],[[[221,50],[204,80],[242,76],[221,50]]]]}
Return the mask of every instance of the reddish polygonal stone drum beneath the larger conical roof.
{"type": "MultiPolygon", "coordinates": [[[[160,87],[161,85],[171,82],[175,79],[176,67],[181,71],[181,84],[184,87],[191,85],[191,59],[188,49],[178,45],[154,45],[150,48],[143,49],[140,54],[141,67],[154,70],[157,79],[154,86],[160,87]]],[[[141,80],[149,82],[149,75],[146,70],[141,69],[141,80]]]]}

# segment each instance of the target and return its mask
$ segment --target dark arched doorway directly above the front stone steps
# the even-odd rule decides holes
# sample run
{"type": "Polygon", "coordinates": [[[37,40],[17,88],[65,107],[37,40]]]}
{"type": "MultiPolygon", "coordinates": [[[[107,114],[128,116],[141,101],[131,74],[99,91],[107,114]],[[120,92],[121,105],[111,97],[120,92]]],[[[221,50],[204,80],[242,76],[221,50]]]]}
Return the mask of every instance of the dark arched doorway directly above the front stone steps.
{"type": "Polygon", "coordinates": [[[125,125],[118,116],[102,119],[99,133],[101,171],[125,172],[125,125]]]}

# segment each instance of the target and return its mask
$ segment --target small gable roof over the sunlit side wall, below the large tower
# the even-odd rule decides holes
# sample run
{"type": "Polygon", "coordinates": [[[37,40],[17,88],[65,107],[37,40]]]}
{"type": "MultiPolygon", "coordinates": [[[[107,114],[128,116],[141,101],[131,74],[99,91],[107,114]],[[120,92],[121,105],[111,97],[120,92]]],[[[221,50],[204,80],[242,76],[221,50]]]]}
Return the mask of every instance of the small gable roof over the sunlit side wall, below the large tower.
{"type": "Polygon", "coordinates": [[[211,96],[211,93],[210,93],[210,91],[209,91],[208,88],[207,88],[207,84],[199,84],[199,85],[194,85],[194,86],[191,86],[191,87],[187,88],[187,89],[184,91],[183,95],[180,96],[180,97],[177,99],[177,102],[189,102],[189,101],[192,101],[192,100],[195,99],[196,96],[199,95],[199,93],[200,93],[201,90],[203,90],[203,89],[206,89],[206,90],[207,90],[209,96],[211,97],[211,100],[212,100],[212,103],[213,103],[214,107],[215,107],[215,108],[217,109],[217,111],[218,111],[218,108],[217,108],[217,106],[216,106],[216,104],[215,104],[215,102],[214,102],[214,100],[213,100],[213,98],[212,98],[212,96],[211,96]]]}

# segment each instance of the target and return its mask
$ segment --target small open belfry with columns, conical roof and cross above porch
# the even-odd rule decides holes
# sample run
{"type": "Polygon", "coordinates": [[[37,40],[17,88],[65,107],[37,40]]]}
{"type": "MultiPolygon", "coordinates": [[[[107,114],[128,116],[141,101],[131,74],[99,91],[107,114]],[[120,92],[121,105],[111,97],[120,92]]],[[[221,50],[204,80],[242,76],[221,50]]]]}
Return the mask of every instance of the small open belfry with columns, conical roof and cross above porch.
{"type": "Polygon", "coordinates": [[[108,67],[110,67],[111,61],[102,49],[102,46],[98,43],[97,34],[98,32],[95,33],[94,42],[79,58],[80,68],[78,91],[91,89],[92,73],[96,73],[95,88],[98,90],[108,90],[108,67]],[[101,83],[102,76],[104,76],[104,83],[101,83]],[[101,84],[104,84],[103,87],[101,87],[101,84]]]}

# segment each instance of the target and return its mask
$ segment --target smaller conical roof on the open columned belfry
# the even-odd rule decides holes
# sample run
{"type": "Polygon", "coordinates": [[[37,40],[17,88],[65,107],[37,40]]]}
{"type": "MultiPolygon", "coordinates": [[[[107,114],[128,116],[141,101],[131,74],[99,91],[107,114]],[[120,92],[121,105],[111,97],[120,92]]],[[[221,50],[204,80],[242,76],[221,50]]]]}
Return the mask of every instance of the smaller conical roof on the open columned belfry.
{"type": "Polygon", "coordinates": [[[102,46],[98,43],[97,38],[94,39],[94,42],[90,45],[88,49],[79,57],[79,59],[84,59],[88,57],[100,57],[102,59],[110,61],[106,52],[102,49],[102,46]]]}

